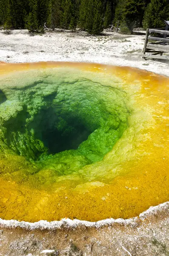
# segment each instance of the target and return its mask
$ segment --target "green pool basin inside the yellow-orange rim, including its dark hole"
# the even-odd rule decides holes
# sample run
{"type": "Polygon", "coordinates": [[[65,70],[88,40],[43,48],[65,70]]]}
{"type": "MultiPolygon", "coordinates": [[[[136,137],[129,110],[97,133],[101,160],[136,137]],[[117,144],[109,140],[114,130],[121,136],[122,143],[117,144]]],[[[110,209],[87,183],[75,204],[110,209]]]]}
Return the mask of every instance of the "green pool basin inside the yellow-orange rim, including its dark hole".
{"type": "MultiPolygon", "coordinates": [[[[70,69],[4,79],[1,156],[26,157],[40,183],[102,160],[127,128],[130,111],[119,88],[116,80],[106,84],[70,69]]],[[[12,178],[22,182],[27,172],[12,178]]]]}

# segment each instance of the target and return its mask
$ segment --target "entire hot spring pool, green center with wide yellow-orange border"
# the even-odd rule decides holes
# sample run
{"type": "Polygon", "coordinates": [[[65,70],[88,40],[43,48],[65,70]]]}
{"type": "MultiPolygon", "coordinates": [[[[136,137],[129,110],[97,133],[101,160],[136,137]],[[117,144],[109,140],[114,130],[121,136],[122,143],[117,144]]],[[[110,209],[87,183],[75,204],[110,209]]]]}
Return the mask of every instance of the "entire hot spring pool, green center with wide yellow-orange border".
{"type": "Polygon", "coordinates": [[[130,218],[169,200],[169,79],[0,64],[0,218],[130,218]]]}

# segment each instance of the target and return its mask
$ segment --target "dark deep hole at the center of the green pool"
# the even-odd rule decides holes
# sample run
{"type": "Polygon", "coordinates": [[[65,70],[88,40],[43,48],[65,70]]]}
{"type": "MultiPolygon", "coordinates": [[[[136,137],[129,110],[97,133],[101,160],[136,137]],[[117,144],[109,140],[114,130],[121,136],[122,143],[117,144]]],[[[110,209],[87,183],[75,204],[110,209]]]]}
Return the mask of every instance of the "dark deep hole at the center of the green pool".
{"type": "Polygon", "coordinates": [[[49,149],[49,154],[77,149],[92,133],[77,113],[59,115],[57,106],[40,110],[29,125],[29,130],[32,128],[35,137],[49,149]]]}

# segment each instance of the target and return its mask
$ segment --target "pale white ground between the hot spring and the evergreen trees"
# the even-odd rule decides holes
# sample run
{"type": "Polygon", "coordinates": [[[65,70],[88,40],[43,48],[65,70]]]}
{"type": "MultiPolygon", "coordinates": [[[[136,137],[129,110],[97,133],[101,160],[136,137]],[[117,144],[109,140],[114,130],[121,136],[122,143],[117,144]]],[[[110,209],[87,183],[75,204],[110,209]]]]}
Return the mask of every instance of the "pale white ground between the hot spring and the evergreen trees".
{"type": "MultiPolygon", "coordinates": [[[[140,34],[141,31],[139,31],[140,34]]],[[[86,32],[46,31],[32,35],[27,30],[0,30],[0,61],[77,61],[130,66],[169,76],[168,63],[142,59],[145,35],[87,35],[86,32]]],[[[145,32],[144,32],[145,33],[145,32]]]]}

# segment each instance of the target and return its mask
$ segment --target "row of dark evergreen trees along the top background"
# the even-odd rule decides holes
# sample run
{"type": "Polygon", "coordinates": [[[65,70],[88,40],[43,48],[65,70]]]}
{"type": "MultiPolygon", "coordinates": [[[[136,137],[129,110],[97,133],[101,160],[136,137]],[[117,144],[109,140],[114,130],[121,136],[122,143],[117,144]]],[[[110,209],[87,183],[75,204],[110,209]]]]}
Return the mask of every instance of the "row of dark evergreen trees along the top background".
{"type": "Polygon", "coordinates": [[[163,28],[169,20],[169,0],[0,0],[4,29],[43,32],[48,28],[79,28],[99,34],[111,24],[122,33],[134,27],[163,28]]]}

